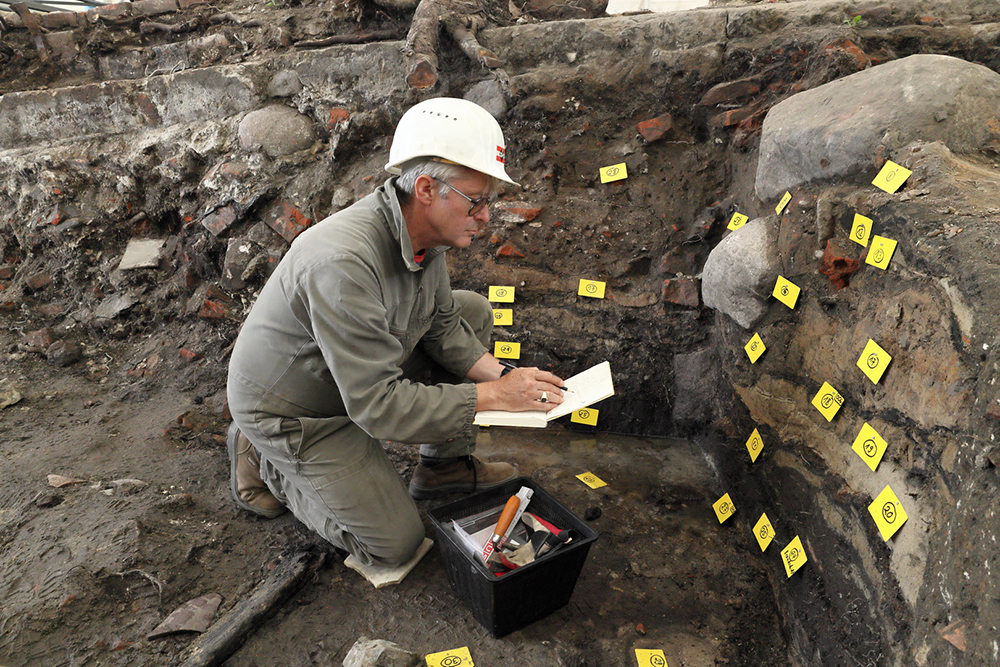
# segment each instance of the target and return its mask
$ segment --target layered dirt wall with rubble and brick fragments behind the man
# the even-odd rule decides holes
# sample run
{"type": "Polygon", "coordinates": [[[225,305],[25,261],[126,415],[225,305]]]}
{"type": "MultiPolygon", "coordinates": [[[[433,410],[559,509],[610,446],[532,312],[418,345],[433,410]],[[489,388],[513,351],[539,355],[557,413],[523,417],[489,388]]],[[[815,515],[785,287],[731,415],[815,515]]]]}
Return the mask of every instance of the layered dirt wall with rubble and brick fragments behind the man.
{"type": "MultiPolygon", "coordinates": [[[[186,33],[132,43],[110,22],[77,26],[87,46],[50,67],[51,89],[4,80],[0,311],[26,334],[19,353],[56,363],[68,357],[52,345],[68,341],[86,372],[131,395],[164,369],[217,394],[239,323],[297,233],[381,182],[405,108],[472,96],[496,110],[524,185],[450,259],[455,287],[517,287],[515,325],[497,338],[565,375],[608,359],[618,394],[600,406],[601,429],[711,435],[720,483],[751,520],[734,534],[768,508],[809,555],[786,579],[775,547],[765,554],[800,664],[945,664],[959,649],[938,631],[957,620],[967,650],[989,656],[993,532],[981,508],[1000,414],[1000,286],[982,250],[995,245],[990,156],[887,144],[914,170],[901,196],[860,182],[796,189],[768,224],[803,297],[795,311],[768,304],[755,323],[769,348],[759,364],[746,363],[749,332],[705,307],[700,280],[733,213],[773,208],[754,194],[769,108],[912,53],[996,71],[998,14],[992,3],[807,2],[528,24],[482,35],[503,71],[442,58],[437,87],[420,95],[403,83],[398,43],[294,51],[274,31],[248,41],[241,31],[257,28],[225,33],[232,21],[205,17],[225,43],[198,51],[186,33]],[[170,43],[188,57],[164,70],[170,43]],[[259,140],[244,121],[274,105],[309,131],[259,140]],[[598,169],[622,162],[629,178],[602,184],[598,169]],[[899,241],[892,270],[864,266],[850,245],[855,209],[899,241]],[[817,257],[831,239],[844,246],[817,257]],[[123,265],[149,240],[145,262],[123,265]],[[578,296],[581,278],[606,282],[607,298],[578,296]],[[868,338],[894,358],[878,385],[855,367],[868,338]],[[822,381],[849,397],[833,422],[809,404],[822,381]],[[875,473],[850,449],[859,420],[892,443],[875,473]],[[751,467],[755,426],[767,446],[751,467]],[[910,515],[888,543],[867,509],[886,484],[910,515]]],[[[313,19],[286,23],[305,34],[313,19]]]]}

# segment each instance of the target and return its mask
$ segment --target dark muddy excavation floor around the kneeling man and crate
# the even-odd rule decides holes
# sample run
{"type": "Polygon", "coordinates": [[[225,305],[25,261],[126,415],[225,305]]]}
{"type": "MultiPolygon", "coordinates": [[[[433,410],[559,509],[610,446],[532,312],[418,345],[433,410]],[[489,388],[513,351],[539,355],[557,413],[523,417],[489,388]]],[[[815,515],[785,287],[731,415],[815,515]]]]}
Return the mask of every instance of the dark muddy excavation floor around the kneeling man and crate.
{"type": "MultiPolygon", "coordinates": [[[[481,436],[482,455],[514,462],[578,515],[601,510],[569,605],[496,640],[449,587],[440,548],[375,590],[290,515],[240,511],[218,384],[164,374],[133,391],[82,364],[10,354],[10,331],[0,342],[24,394],[0,412],[5,667],[177,664],[191,635],[145,639],[167,613],[213,592],[224,612],[304,549],[325,565],[227,665],[339,665],[362,635],[421,653],[468,646],[478,665],[631,665],[636,647],[664,649],[675,667],[786,664],[770,583],[749,557],[757,546],[747,526],[717,523],[712,472],[689,442],[560,428],[481,436]],[[178,426],[182,414],[193,429],[178,426]],[[585,471],[608,486],[589,489],[574,477],[585,471]],[[54,489],[49,474],[84,481],[54,489]]],[[[414,451],[392,453],[408,476],[414,451]]]]}

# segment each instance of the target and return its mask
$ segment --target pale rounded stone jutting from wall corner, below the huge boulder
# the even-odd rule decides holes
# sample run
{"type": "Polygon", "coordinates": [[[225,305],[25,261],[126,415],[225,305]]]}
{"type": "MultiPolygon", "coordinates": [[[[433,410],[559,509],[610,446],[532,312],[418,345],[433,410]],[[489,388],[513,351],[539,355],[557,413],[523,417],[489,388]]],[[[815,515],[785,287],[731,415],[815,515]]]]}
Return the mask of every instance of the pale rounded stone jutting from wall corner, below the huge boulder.
{"type": "Polygon", "coordinates": [[[705,305],[729,315],[744,329],[767,312],[768,296],[778,274],[773,234],[777,216],[758,218],[719,242],[702,272],[705,305]]]}

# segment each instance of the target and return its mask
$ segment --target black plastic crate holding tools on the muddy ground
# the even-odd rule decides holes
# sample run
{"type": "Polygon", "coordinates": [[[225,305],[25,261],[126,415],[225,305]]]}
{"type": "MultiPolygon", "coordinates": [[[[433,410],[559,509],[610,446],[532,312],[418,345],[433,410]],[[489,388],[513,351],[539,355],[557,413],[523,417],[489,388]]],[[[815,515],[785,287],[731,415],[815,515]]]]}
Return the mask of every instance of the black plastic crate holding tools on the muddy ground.
{"type": "Polygon", "coordinates": [[[503,637],[561,609],[569,602],[576,580],[597,533],[527,477],[489,491],[435,507],[427,512],[437,530],[441,559],[456,595],[494,637],[503,637]],[[501,506],[522,486],[534,491],[526,511],[578,537],[533,563],[497,576],[469,553],[452,527],[464,519],[501,506]]]}

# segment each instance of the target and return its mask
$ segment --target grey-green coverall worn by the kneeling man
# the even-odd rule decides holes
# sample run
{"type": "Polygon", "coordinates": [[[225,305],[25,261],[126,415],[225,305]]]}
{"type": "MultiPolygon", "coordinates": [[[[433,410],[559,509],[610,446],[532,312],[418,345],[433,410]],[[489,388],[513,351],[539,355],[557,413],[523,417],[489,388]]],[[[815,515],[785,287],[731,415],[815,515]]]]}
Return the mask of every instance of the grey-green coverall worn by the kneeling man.
{"type": "Polygon", "coordinates": [[[247,316],[228,382],[272,493],[381,565],[407,560],[424,529],[380,440],[472,452],[476,388],[461,379],[493,326],[485,298],[452,292],[446,248],[414,261],[394,180],[299,235],[247,316]],[[411,379],[433,366],[451,382],[411,379]]]}

